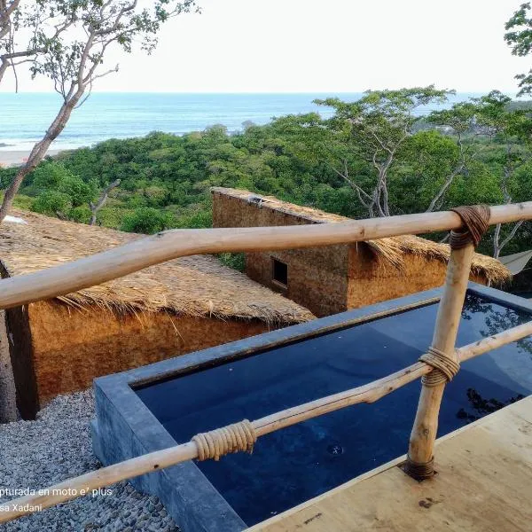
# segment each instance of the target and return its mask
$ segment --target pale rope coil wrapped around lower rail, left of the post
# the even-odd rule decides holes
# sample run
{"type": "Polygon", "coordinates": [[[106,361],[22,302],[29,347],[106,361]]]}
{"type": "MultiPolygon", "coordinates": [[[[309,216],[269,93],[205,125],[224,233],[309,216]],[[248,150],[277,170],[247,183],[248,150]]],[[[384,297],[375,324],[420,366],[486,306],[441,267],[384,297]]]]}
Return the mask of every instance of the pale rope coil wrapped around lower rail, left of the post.
{"type": "Polygon", "coordinates": [[[219,460],[230,452],[246,451],[251,454],[256,441],[254,427],[247,419],[207,433],[196,434],[192,438],[198,448],[200,461],[210,458],[219,460]]]}

